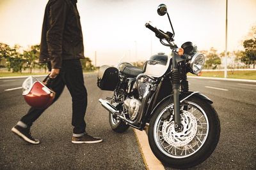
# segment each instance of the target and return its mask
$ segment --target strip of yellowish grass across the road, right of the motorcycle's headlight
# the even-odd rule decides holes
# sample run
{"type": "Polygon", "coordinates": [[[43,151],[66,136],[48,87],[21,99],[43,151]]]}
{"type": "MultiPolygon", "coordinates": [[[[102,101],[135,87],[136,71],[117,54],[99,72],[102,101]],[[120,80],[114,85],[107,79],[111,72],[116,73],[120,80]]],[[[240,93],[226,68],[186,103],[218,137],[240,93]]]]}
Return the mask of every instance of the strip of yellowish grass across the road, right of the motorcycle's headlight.
{"type": "MultiPolygon", "coordinates": [[[[195,74],[188,73],[188,76],[195,74]]],[[[200,76],[224,78],[224,71],[202,71],[200,76]]],[[[228,78],[256,80],[256,71],[228,71],[228,78]]]]}

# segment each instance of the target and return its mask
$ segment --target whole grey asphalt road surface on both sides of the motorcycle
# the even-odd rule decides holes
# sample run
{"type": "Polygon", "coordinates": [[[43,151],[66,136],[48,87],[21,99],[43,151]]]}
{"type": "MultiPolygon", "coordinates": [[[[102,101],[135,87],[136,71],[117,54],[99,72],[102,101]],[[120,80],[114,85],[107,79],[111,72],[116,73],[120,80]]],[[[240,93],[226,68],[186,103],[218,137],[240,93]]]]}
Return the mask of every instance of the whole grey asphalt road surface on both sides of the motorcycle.
{"type": "MultiPolygon", "coordinates": [[[[145,169],[134,132],[111,131],[108,113],[98,103],[111,96],[96,86],[95,74],[86,74],[87,131],[103,143],[71,143],[71,97],[61,98],[35,122],[31,132],[41,140],[29,145],[10,129],[28,110],[20,87],[24,78],[0,80],[0,169],[145,169]]],[[[209,159],[193,169],[256,169],[256,83],[189,78],[190,90],[214,102],[221,121],[220,142],[209,159]]],[[[166,169],[171,169],[166,167],[166,169]]]]}

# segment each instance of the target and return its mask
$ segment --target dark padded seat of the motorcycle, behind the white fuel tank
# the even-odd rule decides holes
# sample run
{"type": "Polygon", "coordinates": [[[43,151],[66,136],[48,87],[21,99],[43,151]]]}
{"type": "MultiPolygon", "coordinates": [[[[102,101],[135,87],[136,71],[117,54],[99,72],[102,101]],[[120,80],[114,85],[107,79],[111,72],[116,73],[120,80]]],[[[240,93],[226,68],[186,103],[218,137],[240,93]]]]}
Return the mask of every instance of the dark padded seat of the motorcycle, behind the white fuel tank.
{"type": "Polygon", "coordinates": [[[129,77],[136,77],[138,74],[143,73],[142,69],[140,67],[132,66],[131,64],[125,62],[120,64],[119,66],[120,73],[123,73],[129,77]]]}

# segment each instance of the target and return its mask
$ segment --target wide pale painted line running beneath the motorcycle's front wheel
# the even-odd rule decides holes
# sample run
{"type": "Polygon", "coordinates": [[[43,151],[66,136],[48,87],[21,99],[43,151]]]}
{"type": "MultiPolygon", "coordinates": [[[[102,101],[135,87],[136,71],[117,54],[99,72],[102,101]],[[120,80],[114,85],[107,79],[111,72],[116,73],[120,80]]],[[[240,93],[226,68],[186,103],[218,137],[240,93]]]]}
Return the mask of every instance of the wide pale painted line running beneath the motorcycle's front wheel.
{"type": "Polygon", "coordinates": [[[138,129],[133,129],[138,144],[140,146],[141,155],[146,166],[146,169],[149,170],[164,170],[163,164],[156,158],[152,150],[150,149],[148,143],[148,136],[145,131],[140,131],[138,129]]]}

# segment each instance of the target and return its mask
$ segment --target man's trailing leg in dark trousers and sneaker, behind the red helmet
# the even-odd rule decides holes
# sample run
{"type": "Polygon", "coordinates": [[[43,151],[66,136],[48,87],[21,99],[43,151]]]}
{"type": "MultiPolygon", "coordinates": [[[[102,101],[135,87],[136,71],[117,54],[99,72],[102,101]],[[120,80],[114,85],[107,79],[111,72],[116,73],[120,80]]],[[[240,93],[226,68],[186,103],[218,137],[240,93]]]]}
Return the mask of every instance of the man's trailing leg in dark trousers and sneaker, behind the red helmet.
{"type": "MultiPolygon", "coordinates": [[[[60,97],[65,84],[64,81],[61,78],[61,74],[59,76],[57,76],[54,79],[51,79],[51,85],[49,85],[49,87],[54,90],[55,97],[54,97],[54,101],[57,101],[57,99],[60,97]]],[[[42,115],[42,113],[45,111],[46,109],[42,110],[42,109],[37,109],[37,108],[33,108],[31,107],[28,111],[28,113],[26,115],[24,115],[24,117],[22,117],[20,119],[20,121],[17,123],[17,125],[15,125],[15,127],[12,128],[12,131],[17,134],[19,137],[21,137],[22,139],[24,139],[25,141],[27,141],[28,143],[33,143],[33,144],[38,144],[40,143],[40,141],[38,141],[37,139],[34,139],[31,134],[30,134],[30,127],[33,124],[33,122],[35,122],[35,120],[37,118],[40,117],[40,115],[42,115]]]]}

